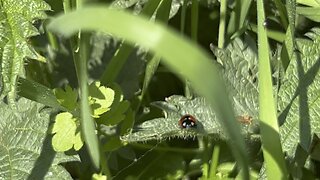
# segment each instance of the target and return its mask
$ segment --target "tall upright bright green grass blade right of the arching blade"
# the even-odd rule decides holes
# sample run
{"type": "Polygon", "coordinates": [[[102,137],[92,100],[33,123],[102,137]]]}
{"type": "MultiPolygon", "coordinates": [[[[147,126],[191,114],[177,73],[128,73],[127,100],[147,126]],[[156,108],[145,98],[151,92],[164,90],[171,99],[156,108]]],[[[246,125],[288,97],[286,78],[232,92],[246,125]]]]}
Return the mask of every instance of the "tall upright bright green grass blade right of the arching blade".
{"type": "Polygon", "coordinates": [[[281,148],[275,101],[273,98],[269,44],[263,0],[257,1],[258,58],[259,58],[259,118],[263,157],[268,179],[287,179],[284,154],[281,148]]]}

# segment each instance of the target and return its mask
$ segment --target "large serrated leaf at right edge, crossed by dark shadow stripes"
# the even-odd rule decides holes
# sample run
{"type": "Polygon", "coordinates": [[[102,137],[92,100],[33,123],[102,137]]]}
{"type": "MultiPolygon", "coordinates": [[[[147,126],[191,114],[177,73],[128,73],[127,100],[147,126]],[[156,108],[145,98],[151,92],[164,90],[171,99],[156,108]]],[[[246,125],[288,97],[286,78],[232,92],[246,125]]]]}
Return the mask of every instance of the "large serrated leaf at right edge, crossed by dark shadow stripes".
{"type": "Polygon", "coordinates": [[[278,102],[283,150],[293,156],[298,143],[308,152],[312,134],[320,134],[320,29],[298,39],[297,56],[290,61],[278,102]]]}

